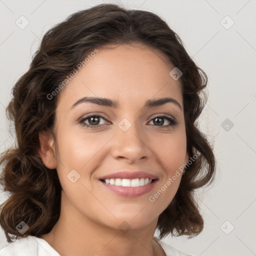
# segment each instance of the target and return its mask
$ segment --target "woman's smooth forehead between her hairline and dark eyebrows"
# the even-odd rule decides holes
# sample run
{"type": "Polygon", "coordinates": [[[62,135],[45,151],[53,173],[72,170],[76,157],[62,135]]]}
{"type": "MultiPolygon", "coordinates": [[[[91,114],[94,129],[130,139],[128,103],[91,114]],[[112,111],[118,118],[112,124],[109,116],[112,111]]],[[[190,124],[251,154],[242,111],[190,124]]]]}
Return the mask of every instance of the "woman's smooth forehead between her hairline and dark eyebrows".
{"type": "Polygon", "coordinates": [[[163,53],[142,44],[97,50],[61,91],[59,107],[83,96],[115,99],[119,105],[170,96],[182,105],[181,81],[169,75],[174,66],[163,53]]]}

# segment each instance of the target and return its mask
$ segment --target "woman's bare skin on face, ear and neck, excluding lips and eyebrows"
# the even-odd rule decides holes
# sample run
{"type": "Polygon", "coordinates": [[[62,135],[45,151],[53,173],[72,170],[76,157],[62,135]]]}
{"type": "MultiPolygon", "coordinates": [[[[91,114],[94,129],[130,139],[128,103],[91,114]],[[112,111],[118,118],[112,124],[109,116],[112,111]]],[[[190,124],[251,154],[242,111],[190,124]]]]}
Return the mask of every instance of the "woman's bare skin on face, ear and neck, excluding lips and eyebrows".
{"type": "MultiPolygon", "coordinates": [[[[181,175],[154,202],[148,198],[188,160],[181,81],[169,75],[174,66],[166,56],[145,45],[98,50],[59,95],[55,139],[51,133],[39,135],[42,161],[56,168],[63,188],[59,220],[41,238],[61,256],[165,255],[153,235],[181,175]],[[83,102],[70,109],[83,96],[114,99],[120,106],[83,102]],[[174,98],[181,109],[170,102],[142,107],[146,100],[162,97],[174,98]],[[78,122],[88,113],[103,115],[100,127],[88,128],[78,122]],[[167,119],[163,124],[154,121],[154,116],[164,113],[178,124],[163,128],[170,123],[167,119]],[[131,124],[125,132],[118,127],[123,118],[131,124]],[[136,168],[158,176],[152,191],[123,197],[99,183],[100,176],[136,168]],[[80,175],[74,183],[67,178],[72,169],[80,175]],[[130,226],[125,233],[118,228],[123,221],[130,226]]],[[[89,119],[84,122],[91,124],[89,119]]]]}

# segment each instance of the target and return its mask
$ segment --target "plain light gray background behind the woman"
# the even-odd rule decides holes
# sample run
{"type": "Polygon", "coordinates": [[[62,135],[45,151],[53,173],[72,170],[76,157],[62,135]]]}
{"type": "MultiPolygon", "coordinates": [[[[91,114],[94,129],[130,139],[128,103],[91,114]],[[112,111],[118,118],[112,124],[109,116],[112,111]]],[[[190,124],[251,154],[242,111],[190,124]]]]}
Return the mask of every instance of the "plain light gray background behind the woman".
{"type": "MultiPolygon", "coordinates": [[[[0,0],[0,151],[14,139],[4,114],[10,89],[28,69],[42,35],[74,11],[103,2],[120,1],[0,0]],[[15,24],[21,15],[29,21],[24,29],[15,24]]],[[[192,239],[163,241],[195,256],[256,255],[256,0],[121,2],[164,18],[209,78],[200,127],[214,143],[218,175],[211,188],[197,192],[205,227],[192,239]],[[231,27],[227,15],[234,21],[231,27]],[[226,118],[233,127],[230,121],[221,126],[226,118]]],[[[5,194],[0,195],[3,202],[5,194]]],[[[2,247],[6,241],[0,231],[2,247]]]]}

